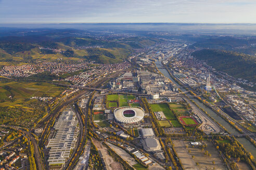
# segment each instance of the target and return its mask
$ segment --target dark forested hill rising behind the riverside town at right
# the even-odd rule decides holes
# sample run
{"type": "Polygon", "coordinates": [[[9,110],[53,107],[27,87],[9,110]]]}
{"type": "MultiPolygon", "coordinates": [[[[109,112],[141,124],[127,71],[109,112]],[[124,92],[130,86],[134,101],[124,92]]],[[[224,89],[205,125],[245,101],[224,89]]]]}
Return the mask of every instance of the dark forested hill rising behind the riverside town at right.
{"type": "Polygon", "coordinates": [[[213,68],[235,78],[256,82],[256,57],[225,50],[203,49],[192,53],[199,60],[206,61],[213,68]]]}

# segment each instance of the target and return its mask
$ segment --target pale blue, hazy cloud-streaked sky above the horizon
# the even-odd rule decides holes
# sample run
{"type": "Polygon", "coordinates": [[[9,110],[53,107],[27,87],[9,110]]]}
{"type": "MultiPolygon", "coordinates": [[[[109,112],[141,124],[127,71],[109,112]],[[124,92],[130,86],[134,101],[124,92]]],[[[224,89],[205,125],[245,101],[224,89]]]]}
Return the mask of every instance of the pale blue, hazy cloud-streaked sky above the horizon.
{"type": "Polygon", "coordinates": [[[0,23],[256,23],[255,0],[0,0],[0,23]]]}

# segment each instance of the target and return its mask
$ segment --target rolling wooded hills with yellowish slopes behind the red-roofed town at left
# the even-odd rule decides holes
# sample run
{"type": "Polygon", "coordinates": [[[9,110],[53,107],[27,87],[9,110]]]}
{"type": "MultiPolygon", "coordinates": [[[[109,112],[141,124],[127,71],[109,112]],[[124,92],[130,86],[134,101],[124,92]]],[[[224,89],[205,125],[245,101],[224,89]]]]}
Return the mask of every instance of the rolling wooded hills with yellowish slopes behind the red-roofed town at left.
{"type": "Polygon", "coordinates": [[[159,43],[157,38],[132,37],[122,41],[107,41],[93,37],[63,37],[61,35],[0,37],[0,65],[32,63],[34,61],[83,60],[96,63],[120,63],[133,49],[159,43]],[[56,52],[61,50],[61,52],[56,52]]]}

